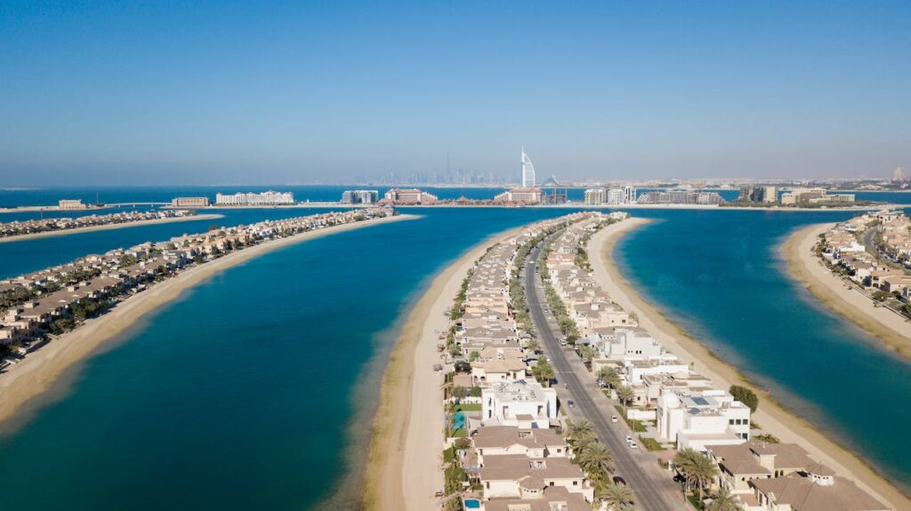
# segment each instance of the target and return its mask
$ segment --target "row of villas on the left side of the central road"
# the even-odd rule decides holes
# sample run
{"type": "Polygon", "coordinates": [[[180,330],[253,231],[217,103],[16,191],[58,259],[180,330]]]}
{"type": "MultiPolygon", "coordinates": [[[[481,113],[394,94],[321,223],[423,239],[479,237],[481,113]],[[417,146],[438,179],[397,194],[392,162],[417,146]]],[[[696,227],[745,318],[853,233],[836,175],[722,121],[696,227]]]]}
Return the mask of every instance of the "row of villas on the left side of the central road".
{"type": "MultiPolygon", "coordinates": [[[[530,225],[491,247],[466,279],[452,317],[452,341],[460,355],[450,361],[453,388],[447,403],[474,405],[479,414],[461,417],[465,436],[455,463],[466,472],[460,498],[482,511],[589,511],[594,487],[573,463],[573,452],[558,431],[557,393],[537,382],[538,355],[531,336],[518,325],[510,286],[516,285],[517,256],[523,247],[589,214],[567,215],[530,225]],[[478,406],[479,405],[479,406],[478,406]]],[[[442,346],[441,346],[442,347],[442,346]]]]}

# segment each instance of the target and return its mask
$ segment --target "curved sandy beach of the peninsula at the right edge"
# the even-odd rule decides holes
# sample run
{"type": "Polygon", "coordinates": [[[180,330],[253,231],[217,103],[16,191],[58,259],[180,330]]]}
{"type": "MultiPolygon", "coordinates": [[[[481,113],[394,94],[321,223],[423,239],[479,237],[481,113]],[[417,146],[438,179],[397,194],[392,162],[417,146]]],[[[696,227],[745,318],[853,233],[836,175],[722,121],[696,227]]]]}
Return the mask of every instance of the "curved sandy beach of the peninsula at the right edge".
{"type": "Polygon", "coordinates": [[[818,236],[834,224],[810,225],[788,236],[781,251],[788,273],[838,314],[846,317],[885,346],[911,357],[911,323],[835,276],[813,252],[818,236]]]}

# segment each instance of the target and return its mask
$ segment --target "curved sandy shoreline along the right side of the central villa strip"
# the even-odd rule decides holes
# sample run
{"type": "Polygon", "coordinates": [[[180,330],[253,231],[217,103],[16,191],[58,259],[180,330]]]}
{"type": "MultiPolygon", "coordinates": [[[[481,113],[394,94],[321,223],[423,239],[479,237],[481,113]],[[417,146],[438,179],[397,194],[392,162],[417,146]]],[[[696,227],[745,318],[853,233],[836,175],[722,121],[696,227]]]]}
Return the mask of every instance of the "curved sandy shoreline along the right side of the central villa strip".
{"type": "Polygon", "coordinates": [[[696,371],[709,377],[719,388],[744,385],[756,391],[762,404],[752,418],[763,431],[777,436],[782,442],[803,446],[811,456],[833,468],[841,476],[854,479],[857,486],[894,509],[911,509],[911,500],[899,488],[867,465],[863,459],[824,436],[805,419],[793,415],[778,404],[762,388],[746,381],[734,367],[722,361],[711,350],[691,337],[681,326],[670,321],[660,310],[651,305],[632,288],[619,273],[613,260],[613,250],[619,239],[634,228],[650,223],[643,218],[630,218],[610,225],[589,240],[593,275],[612,299],[629,312],[639,316],[640,326],[648,330],[661,344],[675,353],[685,363],[692,363],[696,371]]]}

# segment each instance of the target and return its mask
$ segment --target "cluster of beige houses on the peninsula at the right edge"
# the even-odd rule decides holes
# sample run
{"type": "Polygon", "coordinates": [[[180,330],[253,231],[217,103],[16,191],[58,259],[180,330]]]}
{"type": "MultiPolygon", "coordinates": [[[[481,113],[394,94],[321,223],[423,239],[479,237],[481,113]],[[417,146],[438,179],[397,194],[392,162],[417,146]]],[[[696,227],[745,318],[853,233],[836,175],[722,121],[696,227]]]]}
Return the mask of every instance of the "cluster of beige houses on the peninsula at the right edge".
{"type": "Polygon", "coordinates": [[[911,276],[902,266],[911,268],[909,229],[911,219],[896,211],[855,216],[824,233],[821,255],[858,286],[908,299],[911,276]],[[875,246],[866,246],[863,239],[875,246]],[[871,249],[879,256],[870,254],[871,249]]]}

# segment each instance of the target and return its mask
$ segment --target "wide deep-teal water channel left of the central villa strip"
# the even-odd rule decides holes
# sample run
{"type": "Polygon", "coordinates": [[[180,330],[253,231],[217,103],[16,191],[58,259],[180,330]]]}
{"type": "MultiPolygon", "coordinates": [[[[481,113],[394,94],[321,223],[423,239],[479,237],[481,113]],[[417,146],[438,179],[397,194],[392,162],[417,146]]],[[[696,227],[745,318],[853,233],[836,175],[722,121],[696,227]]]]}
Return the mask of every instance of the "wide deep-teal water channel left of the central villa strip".
{"type": "Polygon", "coordinates": [[[89,359],[63,399],[0,440],[3,508],[306,509],[328,496],[370,424],[355,413],[375,403],[370,361],[428,279],[486,235],[560,214],[417,213],[230,268],[89,359]]]}

